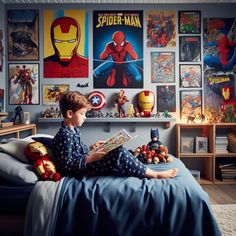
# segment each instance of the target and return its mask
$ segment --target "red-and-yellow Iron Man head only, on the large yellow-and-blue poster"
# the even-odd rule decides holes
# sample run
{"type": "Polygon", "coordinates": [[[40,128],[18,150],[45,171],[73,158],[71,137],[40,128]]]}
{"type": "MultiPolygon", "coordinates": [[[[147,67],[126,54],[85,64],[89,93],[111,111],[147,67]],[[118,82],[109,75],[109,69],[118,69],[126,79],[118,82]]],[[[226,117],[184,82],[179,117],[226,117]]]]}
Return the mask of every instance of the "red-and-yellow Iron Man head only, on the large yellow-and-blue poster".
{"type": "Polygon", "coordinates": [[[60,61],[70,61],[76,54],[80,41],[78,22],[70,17],[57,18],[51,26],[51,39],[60,61]]]}

